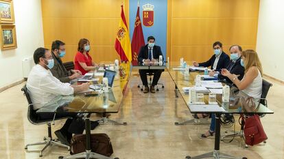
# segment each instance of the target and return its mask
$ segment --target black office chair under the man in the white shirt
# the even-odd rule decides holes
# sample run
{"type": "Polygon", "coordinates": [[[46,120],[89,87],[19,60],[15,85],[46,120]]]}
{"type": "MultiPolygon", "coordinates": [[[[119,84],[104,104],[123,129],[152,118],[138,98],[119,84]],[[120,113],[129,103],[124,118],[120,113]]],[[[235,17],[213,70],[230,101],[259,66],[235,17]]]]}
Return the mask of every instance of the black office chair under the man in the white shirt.
{"type": "MultiPolygon", "coordinates": [[[[68,150],[70,150],[70,147],[68,145],[64,145],[60,143],[57,139],[52,139],[51,123],[54,125],[55,115],[54,115],[54,119],[45,119],[45,120],[39,119],[38,115],[36,114],[36,111],[34,111],[33,109],[32,100],[29,96],[29,92],[27,90],[26,85],[24,85],[21,90],[23,91],[25,97],[27,98],[27,103],[29,104],[28,109],[27,109],[27,119],[29,120],[29,122],[31,122],[34,125],[47,124],[47,130],[48,130],[48,136],[43,138],[43,142],[27,144],[25,145],[25,149],[27,149],[28,146],[32,146],[32,145],[45,145],[45,147],[43,147],[43,149],[39,153],[40,157],[43,156],[43,151],[51,145],[58,145],[61,147],[66,147],[68,150]]],[[[66,119],[66,118],[67,117],[60,118],[60,119],[66,119]]],[[[56,120],[58,119],[59,118],[57,118],[56,120]]]]}

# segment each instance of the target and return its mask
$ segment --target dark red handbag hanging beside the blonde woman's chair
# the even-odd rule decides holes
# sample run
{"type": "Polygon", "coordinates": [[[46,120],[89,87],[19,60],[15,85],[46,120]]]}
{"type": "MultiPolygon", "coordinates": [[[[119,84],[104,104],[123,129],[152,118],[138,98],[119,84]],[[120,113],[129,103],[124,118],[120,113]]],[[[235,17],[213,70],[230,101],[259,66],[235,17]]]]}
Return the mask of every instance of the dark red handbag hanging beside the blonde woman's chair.
{"type": "Polygon", "coordinates": [[[244,125],[244,136],[247,145],[257,145],[268,139],[266,136],[259,115],[246,117],[244,125]]]}

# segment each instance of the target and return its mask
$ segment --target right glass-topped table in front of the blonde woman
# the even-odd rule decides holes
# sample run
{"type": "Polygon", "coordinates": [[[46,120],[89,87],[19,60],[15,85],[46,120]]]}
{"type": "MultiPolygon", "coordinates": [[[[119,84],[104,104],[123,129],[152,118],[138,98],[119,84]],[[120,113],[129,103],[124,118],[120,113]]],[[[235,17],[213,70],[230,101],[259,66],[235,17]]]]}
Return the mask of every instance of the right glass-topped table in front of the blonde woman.
{"type": "MultiPolygon", "coordinates": [[[[273,114],[274,112],[268,107],[264,106],[263,104],[260,104],[259,102],[256,102],[257,109],[254,111],[248,111],[244,110],[244,107],[241,106],[241,100],[235,100],[238,98],[238,94],[231,93],[230,94],[230,101],[229,102],[223,102],[222,101],[222,95],[217,94],[216,95],[216,102],[217,104],[224,109],[224,111],[217,111],[219,109],[216,109],[215,111],[202,111],[196,110],[196,104],[189,104],[189,94],[185,93],[182,88],[184,87],[194,87],[196,85],[196,76],[198,74],[202,75],[204,72],[196,71],[196,72],[188,72],[188,70],[185,70],[185,68],[181,68],[180,66],[168,66],[167,70],[169,72],[169,75],[171,76],[171,79],[175,83],[175,89],[176,92],[179,92],[182,100],[184,100],[185,104],[187,105],[189,111],[191,113],[215,113],[215,145],[213,151],[202,154],[200,156],[186,156],[186,158],[191,159],[200,159],[200,158],[235,158],[234,156],[230,156],[228,154],[220,153],[220,116],[222,114],[245,114],[245,115],[255,115],[255,114],[273,114]],[[194,110],[193,110],[194,108],[194,110]]],[[[243,96],[246,96],[244,93],[242,93],[243,96]]],[[[209,93],[204,93],[204,104],[209,104],[209,93]]],[[[204,104],[200,104],[200,106],[204,106],[204,104]]],[[[242,157],[246,158],[246,157],[242,157]]]]}

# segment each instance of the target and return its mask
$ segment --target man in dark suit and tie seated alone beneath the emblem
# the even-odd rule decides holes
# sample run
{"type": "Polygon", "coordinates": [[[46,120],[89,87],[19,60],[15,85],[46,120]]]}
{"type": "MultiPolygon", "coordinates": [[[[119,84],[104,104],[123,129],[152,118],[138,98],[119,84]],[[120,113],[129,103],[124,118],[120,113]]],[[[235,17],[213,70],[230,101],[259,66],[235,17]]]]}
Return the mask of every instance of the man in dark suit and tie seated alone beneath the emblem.
{"type": "MultiPolygon", "coordinates": [[[[138,56],[138,61],[139,63],[150,63],[150,62],[155,62],[158,60],[160,55],[163,56],[161,47],[155,45],[155,38],[153,36],[150,36],[147,38],[148,44],[145,46],[142,46],[139,51],[139,56],[138,56]]],[[[148,93],[149,92],[149,86],[147,82],[147,73],[153,73],[154,78],[152,81],[152,85],[150,87],[151,93],[155,93],[155,88],[154,86],[157,85],[158,79],[160,78],[163,70],[139,70],[139,74],[141,77],[141,81],[143,85],[145,86],[145,89],[143,93],[148,93]]]]}

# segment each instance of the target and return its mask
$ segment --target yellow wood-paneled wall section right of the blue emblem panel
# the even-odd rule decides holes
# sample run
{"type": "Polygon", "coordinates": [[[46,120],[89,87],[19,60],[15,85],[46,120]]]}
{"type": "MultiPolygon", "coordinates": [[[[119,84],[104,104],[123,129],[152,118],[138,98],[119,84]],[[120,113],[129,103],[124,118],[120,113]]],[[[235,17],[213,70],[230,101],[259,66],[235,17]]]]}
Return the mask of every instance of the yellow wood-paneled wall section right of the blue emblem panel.
{"type": "Polygon", "coordinates": [[[220,41],[255,49],[259,0],[168,0],[167,56],[170,61],[205,61],[220,41]]]}

